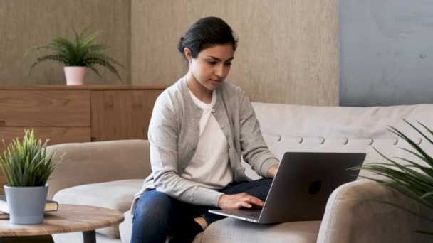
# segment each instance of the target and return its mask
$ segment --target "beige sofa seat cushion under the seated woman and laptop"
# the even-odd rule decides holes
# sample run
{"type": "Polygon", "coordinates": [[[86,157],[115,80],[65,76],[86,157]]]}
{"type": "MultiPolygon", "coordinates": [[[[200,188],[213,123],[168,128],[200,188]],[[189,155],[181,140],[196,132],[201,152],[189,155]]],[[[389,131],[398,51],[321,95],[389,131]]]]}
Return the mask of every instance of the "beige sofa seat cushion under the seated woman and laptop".
{"type": "MultiPolygon", "coordinates": [[[[316,242],[320,221],[285,222],[275,225],[259,225],[243,220],[226,218],[219,220],[195,237],[193,243],[246,243],[246,242],[316,242]]],[[[122,242],[130,242],[132,215],[125,212],[120,223],[122,242]]]]}

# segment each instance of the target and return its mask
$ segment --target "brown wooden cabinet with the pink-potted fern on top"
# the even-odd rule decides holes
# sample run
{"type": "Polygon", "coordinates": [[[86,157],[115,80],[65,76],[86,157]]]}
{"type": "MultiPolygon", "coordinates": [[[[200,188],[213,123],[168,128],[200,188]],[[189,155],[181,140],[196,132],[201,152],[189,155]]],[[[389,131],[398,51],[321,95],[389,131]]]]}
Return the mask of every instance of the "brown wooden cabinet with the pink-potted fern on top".
{"type": "MultiPolygon", "coordinates": [[[[165,86],[0,87],[0,140],[24,129],[48,144],[147,139],[153,105],[165,86]]],[[[4,144],[0,143],[0,151],[4,144]]],[[[0,193],[6,179],[0,173],[0,193]]]]}

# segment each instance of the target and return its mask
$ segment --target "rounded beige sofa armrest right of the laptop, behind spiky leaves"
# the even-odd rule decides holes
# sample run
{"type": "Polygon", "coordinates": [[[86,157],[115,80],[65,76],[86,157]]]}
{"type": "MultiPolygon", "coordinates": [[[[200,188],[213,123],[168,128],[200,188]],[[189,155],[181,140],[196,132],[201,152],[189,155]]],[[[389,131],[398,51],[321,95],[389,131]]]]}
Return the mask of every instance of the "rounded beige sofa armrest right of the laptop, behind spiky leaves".
{"type": "Polygon", "coordinates": [[[433,231],[427,220],[377,201],[395,202],[422,215],[433,215],[432,210],[395,190],[372,180],[357,180],[341,185],[330,195],[317,242],[432,241],[432,236],[415,232],[433,231]]]}

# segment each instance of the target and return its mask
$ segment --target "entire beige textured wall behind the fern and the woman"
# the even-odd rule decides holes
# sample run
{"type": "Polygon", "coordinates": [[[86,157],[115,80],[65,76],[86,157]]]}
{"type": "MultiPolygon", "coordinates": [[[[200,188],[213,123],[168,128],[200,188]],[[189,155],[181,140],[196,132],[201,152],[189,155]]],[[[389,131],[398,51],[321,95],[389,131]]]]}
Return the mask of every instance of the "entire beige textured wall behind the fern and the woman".
{"type": "MultiPolygon", "coordinates": [[[[171,85],[187,72],[177,41],[198,18],[220,16],[239,36],[228,77],[255,102],[338,104],[338,0],[3,0],[0,85],[63,84],[63,68],[26,50],[92,23],[124,63],[125,83],[171,85]]],[[[103,79],[118,83],[104,68],[103,79]]]]}

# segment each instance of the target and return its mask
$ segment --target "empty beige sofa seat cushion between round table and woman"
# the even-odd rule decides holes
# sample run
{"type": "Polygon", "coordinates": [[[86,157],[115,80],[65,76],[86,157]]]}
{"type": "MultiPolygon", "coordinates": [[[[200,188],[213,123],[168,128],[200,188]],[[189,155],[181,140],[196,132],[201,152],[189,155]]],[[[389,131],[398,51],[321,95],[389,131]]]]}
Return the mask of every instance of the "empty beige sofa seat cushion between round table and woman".
{"type": "MultiPolygon", "coordinates": [[[[105,183],[78,185],[58,191],[53,200],[63,204],[93,205],[120,212],[130,210],[135,193],[142,188],[143,180],[116,180],[105,183]]],[[[119,226],[96,229],[108,237],[119,238],[119,226]]]]}

